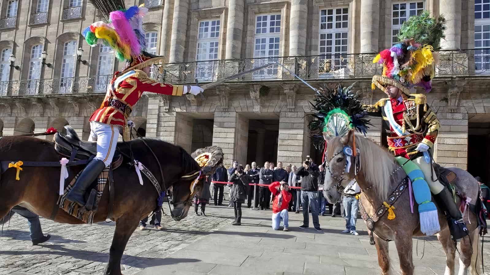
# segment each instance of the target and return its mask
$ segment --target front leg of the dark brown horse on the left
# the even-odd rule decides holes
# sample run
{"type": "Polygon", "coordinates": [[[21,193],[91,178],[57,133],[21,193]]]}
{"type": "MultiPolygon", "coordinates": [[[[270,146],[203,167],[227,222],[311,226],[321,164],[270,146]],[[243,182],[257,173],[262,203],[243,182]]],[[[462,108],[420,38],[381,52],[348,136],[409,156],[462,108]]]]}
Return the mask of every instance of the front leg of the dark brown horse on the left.
{"type": "Polygon", "coordinates": [[[121,257],[131,234],[138,226],[139,216],[119,218],[116,222],[116,230],[109,250],[109,262],[104,275],[121,275],[121,257]]]}

